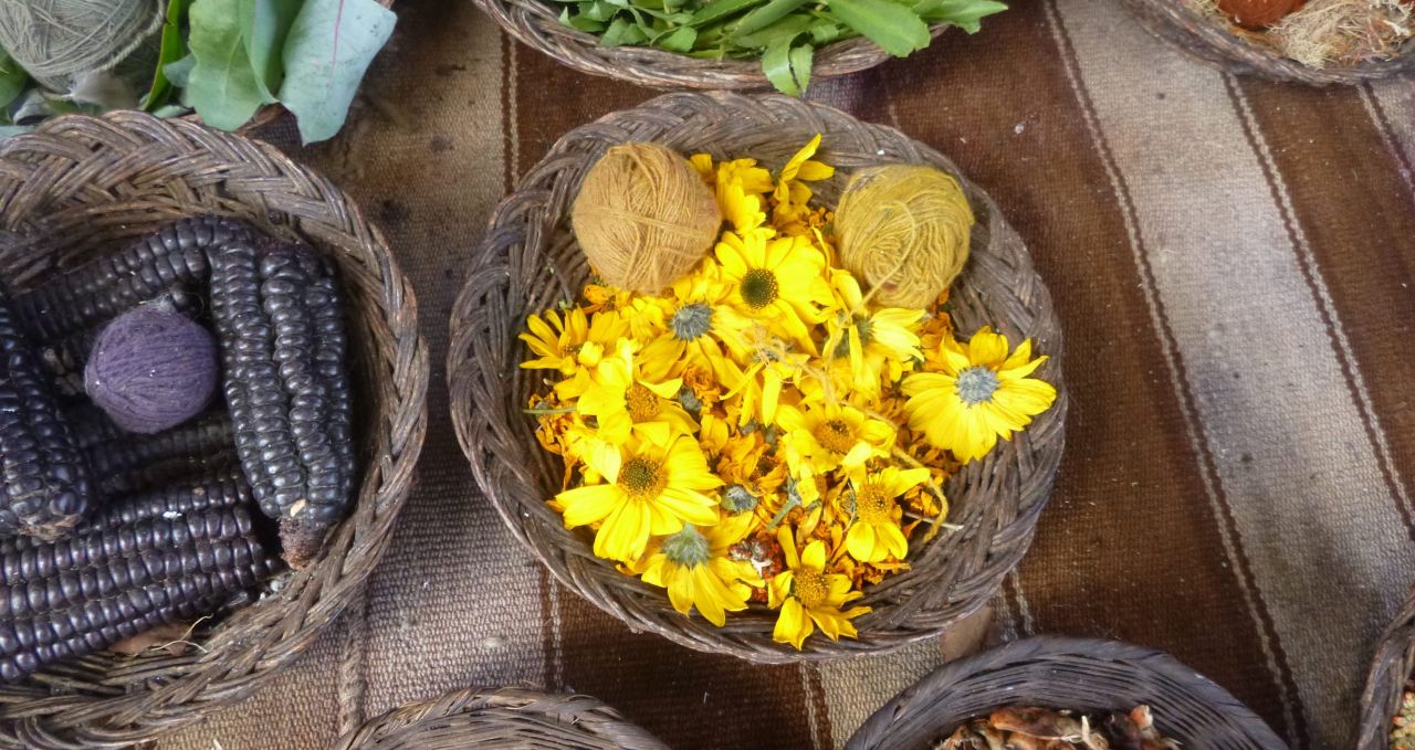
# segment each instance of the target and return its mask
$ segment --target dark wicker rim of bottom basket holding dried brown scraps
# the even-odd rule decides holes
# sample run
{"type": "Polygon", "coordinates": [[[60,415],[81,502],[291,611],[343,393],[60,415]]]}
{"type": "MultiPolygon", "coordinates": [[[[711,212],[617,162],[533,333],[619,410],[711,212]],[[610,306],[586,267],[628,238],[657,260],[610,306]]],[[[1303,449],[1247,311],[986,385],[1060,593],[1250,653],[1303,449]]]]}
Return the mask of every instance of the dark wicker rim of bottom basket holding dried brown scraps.
{"type": "Polygon", "coordinates": [[[874,712],[846,750],[928,750],[968,719],[1002,706],[1080,712],[1149,706],[1156,729],[1187,750],[1282,750],[1227,691],[1173,657],[1116,641],[1040,637],[945,664],[874,712]]]}

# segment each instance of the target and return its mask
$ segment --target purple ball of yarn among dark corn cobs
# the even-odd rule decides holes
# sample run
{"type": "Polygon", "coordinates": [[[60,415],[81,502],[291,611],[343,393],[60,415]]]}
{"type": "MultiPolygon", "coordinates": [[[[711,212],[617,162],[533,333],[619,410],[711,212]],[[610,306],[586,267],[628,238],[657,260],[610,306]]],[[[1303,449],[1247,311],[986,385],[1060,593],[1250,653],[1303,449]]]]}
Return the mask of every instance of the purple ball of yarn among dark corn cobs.
{"type": "Polygon", "coordinates": [[[103,328],[83,388],[129,432],[156,433],[197,416],[216,391],[216,344],[181,313],[144,306],[103,328]]]}

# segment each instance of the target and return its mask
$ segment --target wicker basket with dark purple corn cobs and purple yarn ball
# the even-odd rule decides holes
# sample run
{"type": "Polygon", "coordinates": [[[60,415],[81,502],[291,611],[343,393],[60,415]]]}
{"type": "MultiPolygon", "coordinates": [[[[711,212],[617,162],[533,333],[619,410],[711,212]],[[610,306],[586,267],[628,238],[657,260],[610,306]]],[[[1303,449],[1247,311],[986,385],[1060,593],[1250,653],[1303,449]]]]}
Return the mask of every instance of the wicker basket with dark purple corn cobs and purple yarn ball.
{"type": "Polygon", "coordinates": [[[0,142],[0,744],[151,740],[359,596],[427,354],[327,180],[139,112],[0,142]]]}

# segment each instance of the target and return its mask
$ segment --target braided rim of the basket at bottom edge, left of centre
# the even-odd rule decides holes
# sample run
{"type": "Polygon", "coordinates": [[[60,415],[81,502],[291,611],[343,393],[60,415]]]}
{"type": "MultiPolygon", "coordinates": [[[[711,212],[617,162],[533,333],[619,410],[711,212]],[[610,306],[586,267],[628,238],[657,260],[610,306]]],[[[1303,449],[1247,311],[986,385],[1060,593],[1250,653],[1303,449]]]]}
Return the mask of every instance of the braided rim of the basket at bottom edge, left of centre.
{"type": "MultiPolygon", "coordinates": [[[[361,750],[389,739],[408,740],[419,730],[439,727],[449,717],[487,710],[511,709],[518,715],[543,716],[550,723],[573,727],[584,736],[611,740],[624,750],[668,750],[661,740],[630,722],[617,709],[599,698],[573,692],[546,692],[535,688],[464,688],[437,698],[406,703],[369,719],[358,729],[347,732],[334,743],[334,750],[361,750]]],[[[439,739],[447,739],[440,736],[439,739]]],[[[504,734],[498,734],[504,739],[504,734]]],[[[457,739],[446,749],[466,747],[468,739],[457,739]]]]}

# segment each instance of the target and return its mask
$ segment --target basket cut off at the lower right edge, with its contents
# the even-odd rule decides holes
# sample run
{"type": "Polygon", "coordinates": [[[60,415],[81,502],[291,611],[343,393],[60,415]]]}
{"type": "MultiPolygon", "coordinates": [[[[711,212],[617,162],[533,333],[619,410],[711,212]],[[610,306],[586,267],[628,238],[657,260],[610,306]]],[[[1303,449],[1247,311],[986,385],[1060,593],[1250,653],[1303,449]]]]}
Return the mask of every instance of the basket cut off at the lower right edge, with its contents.
{"type": "Polygon", "coordinates": [[[1360,750],[1415,747],[1415,592],[1381,635],[1361,693],[1360,750]]]}

